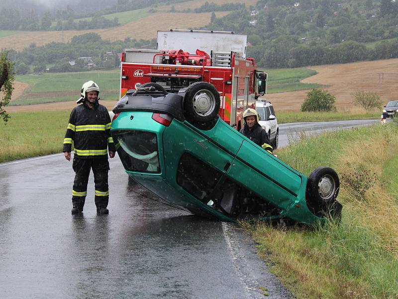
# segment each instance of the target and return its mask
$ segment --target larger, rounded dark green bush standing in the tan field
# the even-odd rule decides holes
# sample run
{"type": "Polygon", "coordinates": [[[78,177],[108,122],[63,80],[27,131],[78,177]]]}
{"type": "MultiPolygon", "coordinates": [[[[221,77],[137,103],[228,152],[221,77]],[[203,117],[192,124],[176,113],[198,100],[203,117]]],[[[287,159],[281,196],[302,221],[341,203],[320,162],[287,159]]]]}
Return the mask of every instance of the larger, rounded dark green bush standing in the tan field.
{"type": "Polygon", "coordinates": [[[334,102],[336,97],[328,91],[312,89],[307,92],[307,98],[301,105],[301,111],[336,111],[334,102]]]}

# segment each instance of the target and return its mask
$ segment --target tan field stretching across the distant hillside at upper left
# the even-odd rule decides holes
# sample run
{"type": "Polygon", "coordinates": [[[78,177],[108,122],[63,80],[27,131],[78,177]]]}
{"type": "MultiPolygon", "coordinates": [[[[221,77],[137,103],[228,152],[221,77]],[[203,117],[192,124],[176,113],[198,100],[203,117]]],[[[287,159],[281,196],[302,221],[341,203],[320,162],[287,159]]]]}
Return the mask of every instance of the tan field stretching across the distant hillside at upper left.
{"type": "MultiPolygon", "coordinates": [[[[177,11],[191,8],[195,9],[206,0],[193,0],[174,4],[177,11]]],[[[211,2],[211,1],[210,1],[211,2]]],[[[236,0],[218,0],[217,4],[235,3],[236,0]]],[[[245,1],[246,7],[254,5],[256,0],[245,1]]],[[[22,51],[32,42],[36,46],[42,46],[50,42],[69,42],[75,35],[89,32],[98,33],[102,39],[110,41],[123,40],[126,37],[135,39],[156,38],[157,30],[168,30],[170,28],[188,29],[192,27],[201,27],[210,22],[211,12],[203,13],[183,13],[169,12],[172,5],[152,6],[156,12],[141,18],[132,20],[124,25],[88,30],[64,30],[64,31],[15,31],[12,35],[0,36],[0,48],[15,49],[22,51]]],[[[230,11],[216,11],[216,17],[222,17],[229,14],[230,11]]]]}

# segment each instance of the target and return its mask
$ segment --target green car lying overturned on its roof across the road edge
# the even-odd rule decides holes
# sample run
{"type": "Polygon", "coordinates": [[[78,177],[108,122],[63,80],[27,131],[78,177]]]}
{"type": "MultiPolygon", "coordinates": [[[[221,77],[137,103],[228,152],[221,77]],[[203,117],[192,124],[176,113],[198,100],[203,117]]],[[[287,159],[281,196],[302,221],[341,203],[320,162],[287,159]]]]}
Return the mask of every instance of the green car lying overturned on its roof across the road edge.
{"type": "Polygon", "coordinates": [[[340,218],[333,169],[299,173],[222,121],[219,107],[205,82],[178,94],[156,83],[127,93],[111,132],[128,175],[173,206],[222,221],[340,218]]]}

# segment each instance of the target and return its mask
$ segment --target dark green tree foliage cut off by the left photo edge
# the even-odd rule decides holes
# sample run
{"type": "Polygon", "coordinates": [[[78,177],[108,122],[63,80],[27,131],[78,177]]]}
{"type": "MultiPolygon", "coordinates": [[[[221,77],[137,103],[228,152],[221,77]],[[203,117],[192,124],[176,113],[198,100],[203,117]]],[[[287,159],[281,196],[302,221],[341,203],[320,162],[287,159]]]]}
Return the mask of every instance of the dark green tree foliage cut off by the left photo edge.
{"type": "Polygon", "coordinates": [[[7,58],[8,52],[0,53],[0,118],[6,123],[9,115],[3,107],[7,106],[11,101],[11,94],[14,90],[12,83],[15,80],[13,73],[14,63],[7,58]]]}

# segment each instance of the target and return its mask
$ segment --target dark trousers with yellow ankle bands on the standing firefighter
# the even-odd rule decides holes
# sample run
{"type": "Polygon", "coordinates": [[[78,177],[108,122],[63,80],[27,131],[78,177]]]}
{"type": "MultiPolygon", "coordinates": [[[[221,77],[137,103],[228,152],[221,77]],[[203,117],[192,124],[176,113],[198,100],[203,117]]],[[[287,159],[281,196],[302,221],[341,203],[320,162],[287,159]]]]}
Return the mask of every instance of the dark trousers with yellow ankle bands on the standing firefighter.
{"type": "Polygon", "coordinates": [[[95,184],[95,203],[97,208],[106,208],[109,200],[107,158],[73,158],[73,170],[75,181],[72,190],[72,204],[74,207],[83,206],[87,195],[87,184],[89,182],[90,169],[93,169],[95,184]]]}

